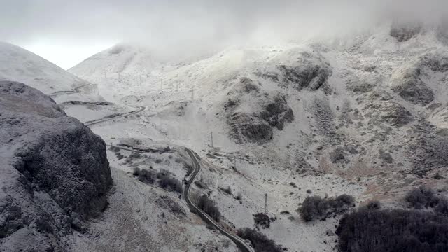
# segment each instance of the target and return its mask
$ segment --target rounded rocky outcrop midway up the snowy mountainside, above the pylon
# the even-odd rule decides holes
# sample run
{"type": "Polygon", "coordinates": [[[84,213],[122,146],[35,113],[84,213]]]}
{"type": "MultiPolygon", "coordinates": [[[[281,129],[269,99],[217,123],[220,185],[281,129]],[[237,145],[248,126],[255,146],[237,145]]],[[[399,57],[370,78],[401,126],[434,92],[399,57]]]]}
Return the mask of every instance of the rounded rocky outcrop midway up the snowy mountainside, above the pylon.
{"type": "Polygon", "coordinates": [[[281,94],[261,94],[250,78],[241,78],[237,84],[223,106],[232,135],[240,143],[265,143],[272,139],[274,129],[283,130],[285,123],[294,120],[293,110],[281,94]]]}

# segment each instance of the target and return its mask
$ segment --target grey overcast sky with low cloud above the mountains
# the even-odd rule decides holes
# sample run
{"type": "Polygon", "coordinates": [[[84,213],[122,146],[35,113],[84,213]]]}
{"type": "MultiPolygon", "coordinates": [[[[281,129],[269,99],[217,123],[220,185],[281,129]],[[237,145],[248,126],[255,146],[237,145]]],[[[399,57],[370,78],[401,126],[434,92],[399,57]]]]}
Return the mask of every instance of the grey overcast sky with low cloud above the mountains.
{"type": "Polygon", "coordinates": [[[0,40],[67,69],[120,41],[160,52],[333,36],[393,18],[432,22],[448,0],[0,0],[0,40]]]}

